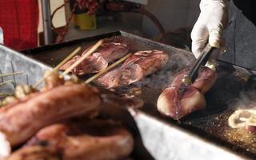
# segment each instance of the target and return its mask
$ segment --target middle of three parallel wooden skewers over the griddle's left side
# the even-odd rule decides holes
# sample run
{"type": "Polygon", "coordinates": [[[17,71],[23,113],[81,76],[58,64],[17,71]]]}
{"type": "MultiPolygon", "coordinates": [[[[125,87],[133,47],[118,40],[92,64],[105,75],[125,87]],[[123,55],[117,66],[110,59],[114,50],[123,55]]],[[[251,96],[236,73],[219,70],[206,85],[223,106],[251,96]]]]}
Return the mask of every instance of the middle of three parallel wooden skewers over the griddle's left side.
{"type": "Polygon", "coordinates": [[[94,53],[95,50],[98,49],[99,46],[102,45],[103,40],[99,40],[93,47],[91,47],[90,50],[88,50],[85,54],[82,55],[81,58],[78,59],[78,61],[74,62],[69,68],[67,68],[62,75],[68,74],[71,70],[74,69],[74,67],[78,66],[82,61],[84,61],[90,54],[94,53]]]}

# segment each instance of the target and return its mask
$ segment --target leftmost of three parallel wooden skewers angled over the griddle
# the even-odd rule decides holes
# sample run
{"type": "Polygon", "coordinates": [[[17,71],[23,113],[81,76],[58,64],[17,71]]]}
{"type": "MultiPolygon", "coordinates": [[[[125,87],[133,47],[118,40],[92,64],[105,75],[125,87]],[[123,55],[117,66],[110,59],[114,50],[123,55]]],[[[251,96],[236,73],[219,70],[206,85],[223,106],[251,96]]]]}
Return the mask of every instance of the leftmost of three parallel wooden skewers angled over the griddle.
{"type": "Polygon", "coordinates": [[[47,77],[49,77],[51,74],[53,74],[55,71],[58,71],[58,69],[63,66],[70,58],[73,58],[75,54],[78,54],[79,50],[81,50],[81,46],[78,46],[76,50],[74,50],[69,56],[67,56],[62,62],[60,62],[57,66],[54,67],[53,70],[50,71],[49,74],[41,78],[38,82],[36,82],[33,86],[33,88],[38,87],[44,80],[46,80],[47,77]]]}

